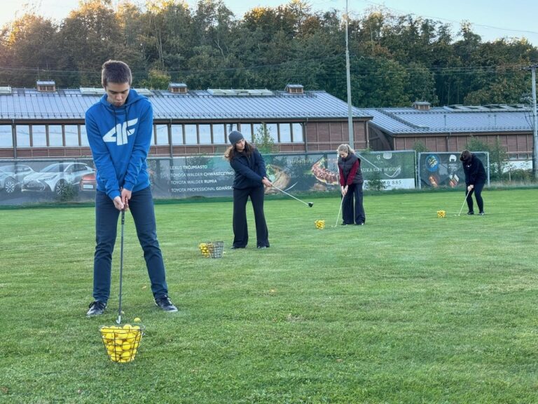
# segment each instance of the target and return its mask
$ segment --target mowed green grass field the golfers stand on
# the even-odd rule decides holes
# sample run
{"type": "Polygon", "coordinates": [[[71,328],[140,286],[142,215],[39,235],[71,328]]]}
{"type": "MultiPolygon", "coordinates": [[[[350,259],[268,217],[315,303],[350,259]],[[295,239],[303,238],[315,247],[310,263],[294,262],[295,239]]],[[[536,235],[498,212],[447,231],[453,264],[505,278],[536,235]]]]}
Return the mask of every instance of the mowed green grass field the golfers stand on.
{"type": "Polygon", "coordinates": [[[127,364],[99,337],[119,240],[109,307],[84,316],[93,208],[0,210],[0,402],[537,403],[538,190],[483,196],[487,215],[457,217],[463,191],[368,195],[364,227],[332,227],[336,196],[268,198],[268,250],[250,206],[230,250],[230,201],[158,204],[177,314],[154,306],[127,215],[123,321],[146,326],[127,364]]]}

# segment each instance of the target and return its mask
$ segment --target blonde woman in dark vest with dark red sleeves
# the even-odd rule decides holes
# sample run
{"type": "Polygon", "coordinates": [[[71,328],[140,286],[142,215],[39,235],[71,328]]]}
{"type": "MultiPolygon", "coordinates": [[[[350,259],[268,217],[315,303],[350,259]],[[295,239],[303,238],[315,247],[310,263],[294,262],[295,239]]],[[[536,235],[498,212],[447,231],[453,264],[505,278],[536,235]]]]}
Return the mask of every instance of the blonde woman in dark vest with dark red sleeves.
{"type": "Polygon", "coordinates": [[[362,206],[362,171],[361,159],[348,144],[338,146],[338,171],[340,172],[340,191],[342,193],[343,225],[366,222],[364,206],[362,206]],[[353,198],[355,203],[353,206],[353,198]]]}

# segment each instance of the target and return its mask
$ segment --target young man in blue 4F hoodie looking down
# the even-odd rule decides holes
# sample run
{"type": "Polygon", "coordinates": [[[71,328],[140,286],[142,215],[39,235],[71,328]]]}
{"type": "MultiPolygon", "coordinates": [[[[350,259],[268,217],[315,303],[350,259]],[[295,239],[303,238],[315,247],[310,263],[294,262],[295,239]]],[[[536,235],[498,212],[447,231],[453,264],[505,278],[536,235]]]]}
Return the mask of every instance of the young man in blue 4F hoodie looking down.
{"type": "Polygon", "coordinates": [[[165,264],[157,240],[153,196],[146,158],[151,144],[153,108],[131,89],[130,68],[117,60],[105,62],[105,94],[86,111],[88,142],[97,169],[93,263],[93,298],[86,316],[103,314],[110,296],[112,252],[118,217],[129,209],[144,250],[155,302],[164,311],[177,311],[168,297],[165,264]]]}

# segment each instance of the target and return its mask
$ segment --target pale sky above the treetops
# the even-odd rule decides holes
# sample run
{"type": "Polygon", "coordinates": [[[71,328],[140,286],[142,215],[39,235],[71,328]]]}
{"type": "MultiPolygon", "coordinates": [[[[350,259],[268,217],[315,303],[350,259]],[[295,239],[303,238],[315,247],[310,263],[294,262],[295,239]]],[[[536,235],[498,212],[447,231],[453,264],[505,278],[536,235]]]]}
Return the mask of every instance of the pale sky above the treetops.
{"type": "MultiPolygon", "coordinates": [[[[140,1],[135,1],[139,3],[140,1]]],[[[188,0],[191,8],[196,0],[188,0]]],[[[238,18],[255,6],[274,7],[287,4],[286,0],[224,0],[238,18]]],[[[34,7],[41,15],[60,21],[69,11],[78,8],[79,0],[2,0],[0,26],[24,13],[25,4],[34,7]]],[[[113,0],[118,4],[118,0],[113,0]]],[[[346,0],[310,0],[312,11],[326,11],[336,8],[344,12],[346,0]]],[[[482,36],[483,41],[498,38],[527,38],[538,46],[538,1],[536,0],[347,0],[350,14],[354,18],[364,15],[367,8],[385,6],[396,15],[413,14],[423,18],[450,23],[455,32],[460,22],[471,22],[473,31],[482,36]]]]}

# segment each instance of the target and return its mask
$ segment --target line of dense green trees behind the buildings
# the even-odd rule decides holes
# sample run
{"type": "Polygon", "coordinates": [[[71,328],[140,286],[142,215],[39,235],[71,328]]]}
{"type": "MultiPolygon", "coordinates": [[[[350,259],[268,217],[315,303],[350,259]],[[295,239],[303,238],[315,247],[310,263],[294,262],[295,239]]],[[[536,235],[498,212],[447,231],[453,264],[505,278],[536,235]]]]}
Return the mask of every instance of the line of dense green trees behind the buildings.
{"type": "MultiPolygon", "coordinates": [[[[105,60],[124,60],[134,85],[166,89],[283,89],[301,83],[347,100],[345,15],[306,1],[255,7],[242,18],[223,0],[86,0],[60,22],[32,9],[0,29],[0,86],[99,86],[105,60]]],[[[357,107],[529,102],[538,48],[526,39],[483,42],[450,25],[370,8],[348,16],[352,103],[357,107]]]]}

